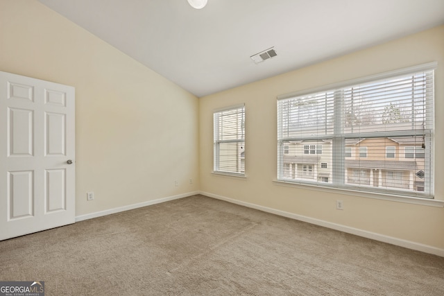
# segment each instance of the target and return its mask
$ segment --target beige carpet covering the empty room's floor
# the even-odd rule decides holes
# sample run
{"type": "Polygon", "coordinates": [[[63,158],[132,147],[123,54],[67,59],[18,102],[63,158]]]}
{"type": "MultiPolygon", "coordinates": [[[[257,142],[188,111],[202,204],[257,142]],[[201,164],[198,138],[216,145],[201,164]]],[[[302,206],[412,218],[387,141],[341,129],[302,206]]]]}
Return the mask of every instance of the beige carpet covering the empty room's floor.
{"type": "Polygon", "coordinates": [[[45,295],[444,295],[444,258],[202,195],[0,242],[45,295]]]}

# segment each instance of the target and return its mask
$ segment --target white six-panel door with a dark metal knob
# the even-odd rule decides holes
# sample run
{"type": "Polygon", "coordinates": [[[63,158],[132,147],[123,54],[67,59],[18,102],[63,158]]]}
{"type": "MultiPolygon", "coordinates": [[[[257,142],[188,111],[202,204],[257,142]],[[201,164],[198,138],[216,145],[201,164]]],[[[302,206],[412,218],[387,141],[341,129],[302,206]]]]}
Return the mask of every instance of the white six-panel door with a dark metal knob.
{"type": "Polygon", "coordinates": [[[74,223],[74,136],[74,87],[0,71],[0,240],[74,223]]]}

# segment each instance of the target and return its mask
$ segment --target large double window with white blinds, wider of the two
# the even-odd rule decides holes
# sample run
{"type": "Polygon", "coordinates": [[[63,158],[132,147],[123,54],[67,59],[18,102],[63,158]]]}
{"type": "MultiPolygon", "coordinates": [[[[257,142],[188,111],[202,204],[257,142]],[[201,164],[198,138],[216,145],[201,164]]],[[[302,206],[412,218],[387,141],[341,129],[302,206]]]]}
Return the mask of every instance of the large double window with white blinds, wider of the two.
{"type": "Polygon", "coordinates": [[[279,96],[278,180],[433,198],[434,67],[279,96]]]}

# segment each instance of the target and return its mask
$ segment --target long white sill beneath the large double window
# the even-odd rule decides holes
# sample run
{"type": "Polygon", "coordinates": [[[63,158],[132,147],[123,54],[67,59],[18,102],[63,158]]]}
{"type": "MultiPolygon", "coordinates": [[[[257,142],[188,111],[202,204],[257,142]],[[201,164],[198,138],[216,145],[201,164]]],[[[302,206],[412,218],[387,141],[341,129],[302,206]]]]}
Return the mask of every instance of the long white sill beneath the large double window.
{"type": "Polygon", "coordinates": [[[388,200],[391,202],[404,202],[408,204],[420,204],[429,207],[444,207],[444,200],[432,200],[427,198],[410,198],[402,195],[393,195],[393,194],[384,194],[384,193],[371,193],[364,191],[355,191],[355,190],[347,190],[347,189],[339,189],[339,188],[330,188],[319,185],[311,185],[311,184],[297,184],[293,182],[283,181],[283,180],[273,180],[273,183],[279,186],[289,186],[289,187],[297,187],[302,189],[311,189],[316,191],[323,191],[329,193],[341,193],[345,195],[353,195],[359,196],[362,198],[375,198],[377,200],[388,200]]]}

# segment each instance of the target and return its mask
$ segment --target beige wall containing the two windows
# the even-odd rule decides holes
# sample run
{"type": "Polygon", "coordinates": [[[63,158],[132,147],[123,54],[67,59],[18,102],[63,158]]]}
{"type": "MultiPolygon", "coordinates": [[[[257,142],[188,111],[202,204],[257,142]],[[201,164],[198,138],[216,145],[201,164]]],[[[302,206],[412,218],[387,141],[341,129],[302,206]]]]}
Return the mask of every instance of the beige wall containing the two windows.
{"type": "MultiPolygon", "coordinates": [[[[443,208],[273,183],[277,170],[276,96],[433,61],[438,62],[438,115],[444,110],[444,26],[200,98],[200,190],[444,249],[443,208]],[[247,178],[212,175],[212,112],[239,103],[246,105],[247,178]],[[343,200],[343,211],[336,210],[337,199],[343,200]]],[[[436,116],[436,130],[436,151],[440,152],[444,147],[443,116],[436,116]]],[[[436,199],[444,200],[443,153],[436,153],[435,164],[436,199]]]]}

